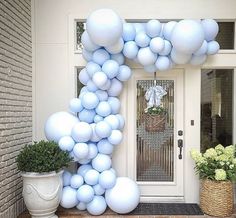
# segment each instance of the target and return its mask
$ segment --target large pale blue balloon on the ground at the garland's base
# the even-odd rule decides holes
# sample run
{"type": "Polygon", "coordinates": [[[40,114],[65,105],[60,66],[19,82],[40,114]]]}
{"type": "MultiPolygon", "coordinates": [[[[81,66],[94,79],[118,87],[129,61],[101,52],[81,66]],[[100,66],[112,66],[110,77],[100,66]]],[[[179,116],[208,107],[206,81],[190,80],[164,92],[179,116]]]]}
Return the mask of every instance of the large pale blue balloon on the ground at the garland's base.
{"type": "Polygon", "coordinates": [[[138,185],[126,177],[118,177],[115,186],[105,193],[107,205],[120,214],[134,210],[139,203],[139,197],[138,185]]]}

